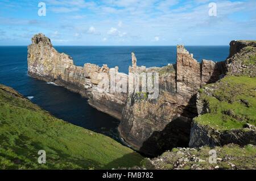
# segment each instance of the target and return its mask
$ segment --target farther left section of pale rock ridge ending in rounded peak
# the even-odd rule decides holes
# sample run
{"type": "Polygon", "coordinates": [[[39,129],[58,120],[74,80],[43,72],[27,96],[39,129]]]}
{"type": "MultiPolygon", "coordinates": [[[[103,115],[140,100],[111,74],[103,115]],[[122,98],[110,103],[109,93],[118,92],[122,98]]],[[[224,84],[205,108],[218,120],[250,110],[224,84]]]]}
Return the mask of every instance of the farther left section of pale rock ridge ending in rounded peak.
{"type": "Polygon", "coordinates": [[[72,58],[65,53],[57,52],[51,40],[42,33],[32,38],[32,44],[28,46],[27,58],[28,74],[31,77],[54,82],[68,90],[78,92],[89,99],[90,106],[121,119],[127,93],[112,92],[108,89],[110,71],[117,82],[121,81],[119,85],[127,82],[127,75],[118,73],[118,68],[110,69],[107,65],[100,68],[94,64],[85,64],[84,67],[75,66],[72,58]],[[100,82],[105,83],[106,86],[99,86],[100,82]]]}

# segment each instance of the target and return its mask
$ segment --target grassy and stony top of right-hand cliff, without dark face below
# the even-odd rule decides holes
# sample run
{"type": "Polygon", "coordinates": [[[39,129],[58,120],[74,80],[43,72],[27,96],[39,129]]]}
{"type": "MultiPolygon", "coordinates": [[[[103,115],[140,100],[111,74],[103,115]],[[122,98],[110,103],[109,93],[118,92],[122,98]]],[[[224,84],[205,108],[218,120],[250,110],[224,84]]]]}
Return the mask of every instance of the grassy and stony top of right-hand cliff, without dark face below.
{"type": "Polygon", "coordinates": [[[250,46],[255,41],[235,42],[234,47],[242,43],[246,47],[228,59],[226,77],[200,90],[203,108],[197,108],[203,112],[195,118],[196,123],[220,131],[256,126],[256,47],[250,46]]]}

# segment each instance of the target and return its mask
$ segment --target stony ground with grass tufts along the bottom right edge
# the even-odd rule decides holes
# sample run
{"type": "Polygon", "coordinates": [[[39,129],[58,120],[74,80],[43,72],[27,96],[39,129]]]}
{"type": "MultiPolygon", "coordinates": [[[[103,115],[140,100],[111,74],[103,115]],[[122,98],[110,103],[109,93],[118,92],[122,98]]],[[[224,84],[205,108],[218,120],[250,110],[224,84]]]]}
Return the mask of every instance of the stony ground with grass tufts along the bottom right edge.
{"type": "MultiPolygon", "coordinates": [[[[224,147],[198,149],[175,148],[157,158],[146,158],[141,169],[150,170],[240,170],[256,169],[256,146],[229,144],[224,147]],[[214,156],[213,156],[214,154],[214,156]]],[[[138,167],[135,167],[138,169],[138,167]]]]}

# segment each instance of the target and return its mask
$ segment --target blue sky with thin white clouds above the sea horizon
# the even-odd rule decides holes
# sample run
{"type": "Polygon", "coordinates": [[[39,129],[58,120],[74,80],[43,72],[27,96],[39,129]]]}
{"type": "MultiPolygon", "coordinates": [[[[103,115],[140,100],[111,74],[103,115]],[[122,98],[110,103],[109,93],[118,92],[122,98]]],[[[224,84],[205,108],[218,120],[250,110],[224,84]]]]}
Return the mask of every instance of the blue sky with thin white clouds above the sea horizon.
{"type": "Polygon", "coordinates": [[[0,1],[0,45],[28,45],[39,32],[53,45],[228,45],[256,40],[256,1],[0,1]]]}

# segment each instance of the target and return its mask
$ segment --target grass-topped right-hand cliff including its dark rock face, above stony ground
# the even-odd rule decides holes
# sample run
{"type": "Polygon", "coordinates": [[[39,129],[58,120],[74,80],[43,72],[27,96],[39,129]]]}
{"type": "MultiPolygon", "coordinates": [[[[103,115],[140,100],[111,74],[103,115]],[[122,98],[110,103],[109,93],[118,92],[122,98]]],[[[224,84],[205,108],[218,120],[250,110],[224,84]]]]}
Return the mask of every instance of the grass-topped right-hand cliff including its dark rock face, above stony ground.
{"type": "Polygon", "coordinates": [[[226,77],[197,94],[199,117],[193,120],[190,147],[256,145],[256,48],[243,41],[230,45],[230,54],[237,53],[227,60],[226,77]]]}

